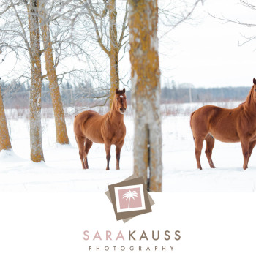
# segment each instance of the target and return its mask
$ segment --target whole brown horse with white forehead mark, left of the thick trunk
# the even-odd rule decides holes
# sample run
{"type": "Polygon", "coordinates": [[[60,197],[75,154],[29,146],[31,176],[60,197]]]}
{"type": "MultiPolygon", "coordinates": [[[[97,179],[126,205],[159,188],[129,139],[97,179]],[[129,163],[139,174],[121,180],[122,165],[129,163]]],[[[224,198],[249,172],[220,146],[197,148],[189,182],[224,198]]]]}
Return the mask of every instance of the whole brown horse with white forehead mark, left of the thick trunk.
{"type": "Polygon", "coordinates": [[[104,116],[95,111],[84,111],[75,116],[74,132],[78,143],[79,155],[83,169],[88,169],[87,155],[92,143],[104,143],[107,154],[107,168],[109,170],[110,148],[116,145],[116,170],[119,170],[121,148],[124,145],[126,128],[124,112],[127,109],[125,89],[116,89],[111,109],[104,116]]]}

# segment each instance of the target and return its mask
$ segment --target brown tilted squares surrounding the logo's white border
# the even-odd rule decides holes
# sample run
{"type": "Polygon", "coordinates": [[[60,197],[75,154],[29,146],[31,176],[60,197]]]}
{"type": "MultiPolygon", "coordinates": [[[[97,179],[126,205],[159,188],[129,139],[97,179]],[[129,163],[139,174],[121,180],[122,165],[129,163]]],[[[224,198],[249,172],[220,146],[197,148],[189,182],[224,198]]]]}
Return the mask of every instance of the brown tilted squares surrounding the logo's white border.
{"type": "MultiPolygon", "coordinates": [[[[129,177],[129,178],[132,178],[132,177],[129,177]]],[[[127,179],[125,181],[121,181],[121,182],[116,183],[116,184],[111,184],[111,185],[108,186],[108,189],[109,189],[110,199],[111,199],[111,202],[113,204],[113,208],[114,208],[117,220],[120,220],[120,219],[129,220],[131,217],[135,217],[135,216],[140,215],[140,214],[146,214],[146,213],[152,211],[151,210],[151,203],[154,204],[154,201],[152,200],[150,202],[150,200],[148,198],[148,192],[147,192],[146,185],[144,183],[143,177],[127,179]],[[118,213],[117,208],[116,208],[115,187],[125,187],[125,186],[140,185],[140,184],[143,185],[144,198],[142,198],[142,200],[145,200],[146,209],[145,210],[127,211],[127,212],[118,213]]],[[[108,192],[106,192],[106,193],[108,193],[108,192]]]]}

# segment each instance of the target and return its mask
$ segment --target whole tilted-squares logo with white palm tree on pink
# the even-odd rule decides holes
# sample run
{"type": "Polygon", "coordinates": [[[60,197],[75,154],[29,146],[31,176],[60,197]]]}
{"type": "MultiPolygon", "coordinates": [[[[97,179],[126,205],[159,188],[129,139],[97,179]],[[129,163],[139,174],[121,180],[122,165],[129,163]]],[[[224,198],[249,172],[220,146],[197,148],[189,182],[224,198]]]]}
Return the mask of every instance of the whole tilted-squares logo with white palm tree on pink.
{"type": "Polygon", "coordinates": [[[148,194],[143,177],[130,176],[108,186],[106,195],[113,204],[116,219],[127,222],[132,217],[151,212],[154,201],[148,194]]]}

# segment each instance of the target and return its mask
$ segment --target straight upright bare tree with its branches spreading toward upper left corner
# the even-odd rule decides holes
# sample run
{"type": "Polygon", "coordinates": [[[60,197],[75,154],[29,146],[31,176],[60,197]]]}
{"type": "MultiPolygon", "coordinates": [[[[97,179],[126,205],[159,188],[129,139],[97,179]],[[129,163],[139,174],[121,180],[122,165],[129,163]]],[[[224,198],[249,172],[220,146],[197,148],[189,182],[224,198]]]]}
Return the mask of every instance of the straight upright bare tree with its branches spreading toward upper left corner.
{"type": "MultiPolygon", "coordinates": [[[[38,0],[8,1],[8,12],[2,18],[1,32],[4,41],[1,48],[15,53],[17,59],[22,55],[23,66],[26,58],[30,63],[30,148],[31,161],[41,162],[44,160],[42,152],[42,127],[41,127],[41,50],[39,34],[39,2],[38,0]],[[21,39],[21,40],[20,40],[21,39]]],[[[7,5],[5,5],[6,7],[7,5]]],[[[7,10],[7,9],[6,9],[7,10]]]]}

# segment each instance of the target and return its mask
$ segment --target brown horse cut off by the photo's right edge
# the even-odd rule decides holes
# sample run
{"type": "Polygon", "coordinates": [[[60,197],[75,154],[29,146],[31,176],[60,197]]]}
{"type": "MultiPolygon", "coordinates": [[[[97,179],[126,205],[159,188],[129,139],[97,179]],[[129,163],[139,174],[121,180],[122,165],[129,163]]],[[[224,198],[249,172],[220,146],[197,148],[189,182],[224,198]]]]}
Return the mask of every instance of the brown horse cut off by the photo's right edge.
{"type": "Polygon", "coordinates": [[[214,163],[211,153],[214,139],[222,142],[241,142],[244,155],[244,170],[248,167],[252,149],[256,145],[256,79],[246,101],[234,109],[203,106],[190,116],[190,127],[195,140],[197,167],[202,169],[200,155],[203,140],[206,140],[206,157],[211,168],[214,163]]]}

